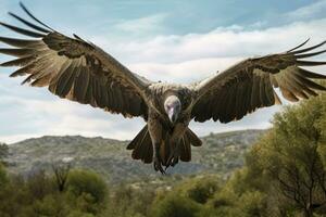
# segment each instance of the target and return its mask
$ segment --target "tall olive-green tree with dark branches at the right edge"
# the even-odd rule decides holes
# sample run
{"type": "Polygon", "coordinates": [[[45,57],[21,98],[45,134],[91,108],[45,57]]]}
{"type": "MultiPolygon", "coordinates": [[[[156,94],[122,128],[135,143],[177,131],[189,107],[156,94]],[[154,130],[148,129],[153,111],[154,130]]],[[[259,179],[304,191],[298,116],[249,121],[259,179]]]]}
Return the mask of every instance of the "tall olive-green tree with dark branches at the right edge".
{"type": "MultiPolygon", "coordinates": [[[[271,181],[269,190],[296,209],[312,217],[326,203],[325,95],[275,115],[273,129],[251,151],[249,170],[258,169],[271,181]],[[324,159],[325,161],[325,159],[324,159]]],[[[249,154],[249,155],[250,155],[249,154]]]]}

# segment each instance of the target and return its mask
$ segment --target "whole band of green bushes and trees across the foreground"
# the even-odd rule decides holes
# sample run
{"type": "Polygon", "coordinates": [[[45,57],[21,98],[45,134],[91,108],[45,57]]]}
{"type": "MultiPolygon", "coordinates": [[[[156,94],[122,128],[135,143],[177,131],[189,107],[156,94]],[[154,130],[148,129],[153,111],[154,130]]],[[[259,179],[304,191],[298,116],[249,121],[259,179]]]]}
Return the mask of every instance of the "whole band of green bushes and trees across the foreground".
{"type": "MultiPolygon", "coordinates": [[[[0,216],[326,216],[326,95],[288,106],[273,125],[250,150],[241,150],[244,165],[230,177],[213,167],[215,173],[112,184],[99,174],[64,165],[25,177],[0,165],[0,216]]],[[[238,149],[231,142],[214,144],[212,137],[204,141],[212,149],[238,149]]]]}

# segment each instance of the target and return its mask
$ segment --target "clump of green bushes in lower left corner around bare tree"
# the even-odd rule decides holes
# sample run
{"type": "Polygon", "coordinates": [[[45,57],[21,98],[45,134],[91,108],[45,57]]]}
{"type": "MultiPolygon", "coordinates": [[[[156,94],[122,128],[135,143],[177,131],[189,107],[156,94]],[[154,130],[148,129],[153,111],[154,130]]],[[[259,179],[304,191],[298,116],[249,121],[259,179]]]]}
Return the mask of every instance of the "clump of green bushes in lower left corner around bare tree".
{"type": "Polygon", "coordinates": [[[43,170],[23,178],[9,177],[0,167],[0,180],[4,180],[0,181],[0,216],[3,217],[92,217],[101,213],[106,197],[105,182],[90,171],[72,171],[68,190],[64,192],[59,191],[55,178],[43,170]]]}

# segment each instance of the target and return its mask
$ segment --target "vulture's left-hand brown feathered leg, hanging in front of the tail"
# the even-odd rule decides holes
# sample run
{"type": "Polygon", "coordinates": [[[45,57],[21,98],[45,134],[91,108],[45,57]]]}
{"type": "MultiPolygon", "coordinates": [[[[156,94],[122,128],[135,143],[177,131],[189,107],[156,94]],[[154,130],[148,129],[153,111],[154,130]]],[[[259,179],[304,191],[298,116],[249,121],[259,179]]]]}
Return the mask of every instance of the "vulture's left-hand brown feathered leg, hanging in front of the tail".
{"type": "Polygon", "coordinates": [[[148,129],[153,144],[153,165],[156,171],[165,174],[162,167],[162,157],[160,155],[160,148],[162,143],[162,125],[156,118],[149,118],[148,129]]]}

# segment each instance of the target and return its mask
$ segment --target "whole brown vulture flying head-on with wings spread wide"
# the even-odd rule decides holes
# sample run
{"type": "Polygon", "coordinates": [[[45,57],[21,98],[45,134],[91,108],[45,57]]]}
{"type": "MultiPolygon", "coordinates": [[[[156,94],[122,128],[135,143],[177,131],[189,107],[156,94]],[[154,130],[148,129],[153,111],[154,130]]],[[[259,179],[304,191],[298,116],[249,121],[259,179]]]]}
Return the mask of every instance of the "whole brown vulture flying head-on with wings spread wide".
{"type": "Polygon", "coordinates": [[[0,53],[16,59],[1,66],[15,66],[11,77],[25,76],[22,84],[47,87],[60,98],[89,104],[124,117],[142,117],[145,127],[127,145],[131,156],[165,173],[179,161],[191,159],[191,145],[201,140],[189,129],[190,120],[229,123],[260,107],[281,104],[275,89],[288,101],[317,95],[325,79],[305,66],[326,65],[306,60],[326,50],[326,43],[243,60],[212,77],[193,84],[166,84],[146,79],[122,65],[96,44],[77,35],[67,37],[35,17],[22,3],[30,21],[9,13],[25,25],[0,25],[29,38],[0,37],[10,46],[0,53]]]}

